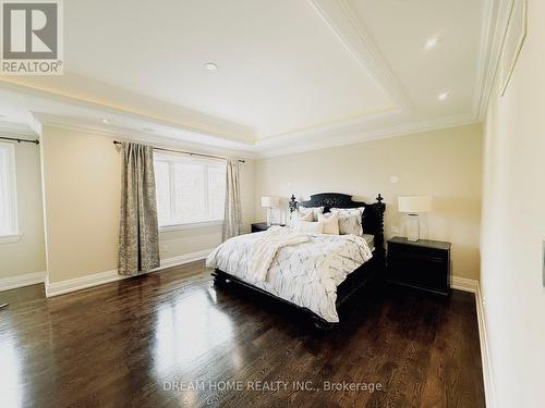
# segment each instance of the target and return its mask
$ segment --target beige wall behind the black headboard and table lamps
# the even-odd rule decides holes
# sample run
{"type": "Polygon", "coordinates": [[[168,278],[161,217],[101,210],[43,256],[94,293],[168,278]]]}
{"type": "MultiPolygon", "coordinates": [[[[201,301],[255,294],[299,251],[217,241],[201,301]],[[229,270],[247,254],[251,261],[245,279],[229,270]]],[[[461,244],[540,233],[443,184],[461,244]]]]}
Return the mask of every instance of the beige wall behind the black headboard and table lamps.
{"type": "Polygon", "coordinates": [[[385,232],[391,236],[391,226],[404,232],[397,197],[431,195],[434,211],[424,222],[424,237],[451,242],[453,274],[477,279],[481,156],[482,126],[475,124],[258,160],[256,214],[266,217],[262,195],[338,191],[368,202],[380,193],[387,205],[385,232]]]}

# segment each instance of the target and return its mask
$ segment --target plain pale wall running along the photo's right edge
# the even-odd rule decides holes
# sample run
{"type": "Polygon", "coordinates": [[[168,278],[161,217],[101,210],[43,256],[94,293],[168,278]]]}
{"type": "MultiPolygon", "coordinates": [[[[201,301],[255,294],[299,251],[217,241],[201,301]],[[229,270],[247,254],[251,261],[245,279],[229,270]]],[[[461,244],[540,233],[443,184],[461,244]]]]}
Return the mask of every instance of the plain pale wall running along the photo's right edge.
{"type": "Polygon", "coordinates": [[[485,124],[481,287],[498,407],[545,407],[545,2],[485,124]]]}

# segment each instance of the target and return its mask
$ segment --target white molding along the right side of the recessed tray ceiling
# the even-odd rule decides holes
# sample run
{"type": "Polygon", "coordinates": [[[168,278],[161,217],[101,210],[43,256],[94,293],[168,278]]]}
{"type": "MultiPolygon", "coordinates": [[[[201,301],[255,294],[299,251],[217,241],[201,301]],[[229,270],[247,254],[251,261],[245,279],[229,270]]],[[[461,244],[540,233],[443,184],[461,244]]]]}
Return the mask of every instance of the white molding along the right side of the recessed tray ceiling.
{"type": "Polygon", "coordinates": [[[370,75],[397,108],[412,111],[412,102],[393,75],[363,22],[347,0],[308,0],[352,58],[370,75]]]}

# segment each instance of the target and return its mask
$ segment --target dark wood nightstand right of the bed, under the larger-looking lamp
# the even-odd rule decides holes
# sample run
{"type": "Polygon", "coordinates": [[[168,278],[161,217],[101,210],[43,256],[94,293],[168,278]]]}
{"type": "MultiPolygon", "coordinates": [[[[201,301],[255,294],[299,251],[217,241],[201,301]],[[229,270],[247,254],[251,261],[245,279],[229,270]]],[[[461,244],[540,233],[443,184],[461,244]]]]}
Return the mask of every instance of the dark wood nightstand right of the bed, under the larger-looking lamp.
{"type": "Polygon", "coordinates": [[[386,280],[400,285],[448,295],[450,293],[450,243],[402,237],[388,240],[386,280]]]}

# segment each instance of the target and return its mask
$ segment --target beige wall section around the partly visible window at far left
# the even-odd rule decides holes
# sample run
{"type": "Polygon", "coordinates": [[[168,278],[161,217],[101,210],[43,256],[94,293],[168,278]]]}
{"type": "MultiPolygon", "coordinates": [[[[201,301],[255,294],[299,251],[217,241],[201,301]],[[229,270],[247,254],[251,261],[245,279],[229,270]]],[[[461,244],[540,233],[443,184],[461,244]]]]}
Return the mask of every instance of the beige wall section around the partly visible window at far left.
{"type": "Polygon", "coordinates": [[[19,230],[22,236],[16,243],[0,244],[0,279],[46,270],[39,148],[31,144],[14,146],[19,230]]]}

